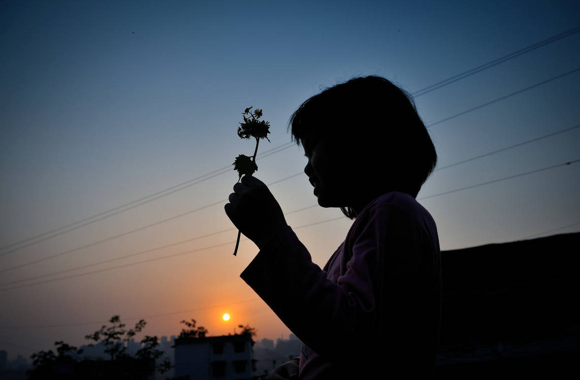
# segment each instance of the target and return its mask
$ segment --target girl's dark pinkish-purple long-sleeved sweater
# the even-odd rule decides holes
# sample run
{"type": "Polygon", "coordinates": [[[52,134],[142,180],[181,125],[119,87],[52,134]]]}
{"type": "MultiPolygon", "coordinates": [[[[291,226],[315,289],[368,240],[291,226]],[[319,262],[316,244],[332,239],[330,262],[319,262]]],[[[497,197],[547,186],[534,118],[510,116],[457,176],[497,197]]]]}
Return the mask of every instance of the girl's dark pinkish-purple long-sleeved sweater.
{"type": "Polygon", "coordinates": [[[241,277],[303,342],[300,379],[432,375],[441,255],[433,218],[410,195],[369,203],[324,269],[288,226],[241,277]]]}

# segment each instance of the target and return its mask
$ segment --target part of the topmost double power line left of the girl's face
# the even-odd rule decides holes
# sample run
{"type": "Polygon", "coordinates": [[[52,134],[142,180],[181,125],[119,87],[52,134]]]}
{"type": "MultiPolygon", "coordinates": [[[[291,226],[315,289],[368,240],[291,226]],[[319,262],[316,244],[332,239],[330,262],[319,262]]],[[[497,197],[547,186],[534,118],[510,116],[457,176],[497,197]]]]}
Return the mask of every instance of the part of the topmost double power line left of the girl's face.
{"type": "MultiPolygon", "coordinates": [[[[262,152],[262,154],[258,155],[258,158],[263,158],[263,157],[269,156],[271,154],[276,154],[278,152],[283,151],[284,149],[288,149],[288,148],[292,147],[292,145],[294,145],[293,142],[287,142],[286,144],[282,144],[278,147],[275,147],[275,148],[272,148],[272,149],[269,149],[267,151],[262,152]]],[[[114,207],[113,209],[103,211],[102,213],[91,215],[90,217],[84,218],[82,220],[78,220],[78,221],[73,222],[71,224],[52,229],[52,230],[45,232],[45,233],[41,233],[40,235],[28,237],[27,239],[20,240],[19,242],[9,244],[8,246],[4,246],[4,247],[0,248],[0,250],[7,249],[10,247],[16,246],[18,244],[29,242],[28,244],[24,244],[20,247],[14,248],[12,250],[9,250],[9,251],[3,252],[3,253],[0,253],[0,257],[2,257],[3,255],[7,255],[9,253],[12,253],[14,251],[18,251],[20,249],[30,247],[34,244],[44,242],[44,240],[51,239],[52,237],[59,236],[63,233],[74,231],[75,229],[84,227],[86,225],[93,224],[95,222],[112,217],[112,216],[120,214],[120,213],[124,213],[125,211],[131,210],[131,209],[135,209],[135,207],[139,207],[139,206],[142,206],[143,204],[153,202],[154,200],[160,199],[164,196],[167,196],[167,195],[170,195],[170,194],[175,193],[177,191],[181,191],[183,189],[197,185],[200,182],[203,182],[203,181],[209,180],[211,178],[220,176],[224,173],[229,173],[231,170],[232,170],[231,165],[224,166],[221,169],[211,171],[210,173],[206,173],[203,176],[195,177],[189,181],[182,182],[182,183],[177,184],[177,185],[173,185],[172,187],[169,187],[169,188],[163,189],[161,191],[155,192],[153,194],[144,196],[142,198],[133,200],[132,202],[121,204],[121,206],[117,206],[117,207],[114,207]],[[63,231],[60,231],[60,230],[63,230],[63,231]],[[30,240],[34,240],[34,241],[30,242],[30,240]]]]}

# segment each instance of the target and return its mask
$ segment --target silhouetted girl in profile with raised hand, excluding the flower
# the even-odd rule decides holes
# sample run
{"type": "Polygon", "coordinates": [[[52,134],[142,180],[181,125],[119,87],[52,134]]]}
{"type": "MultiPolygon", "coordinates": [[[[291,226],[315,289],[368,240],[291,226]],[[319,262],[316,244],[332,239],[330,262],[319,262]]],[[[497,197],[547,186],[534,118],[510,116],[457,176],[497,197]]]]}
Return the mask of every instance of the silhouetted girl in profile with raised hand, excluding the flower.
{"type": "Polygon", "coordinates": [[[322,207],[354,219],[324,269],[263,182],[245,176],[226,213],[260,252],[241,277],[303,342],[269,379],[429,378],[437,355],[437,228],[415,198],[437,155],[411,97],[378,76],[306,100],[289,129],[322,207]]]}

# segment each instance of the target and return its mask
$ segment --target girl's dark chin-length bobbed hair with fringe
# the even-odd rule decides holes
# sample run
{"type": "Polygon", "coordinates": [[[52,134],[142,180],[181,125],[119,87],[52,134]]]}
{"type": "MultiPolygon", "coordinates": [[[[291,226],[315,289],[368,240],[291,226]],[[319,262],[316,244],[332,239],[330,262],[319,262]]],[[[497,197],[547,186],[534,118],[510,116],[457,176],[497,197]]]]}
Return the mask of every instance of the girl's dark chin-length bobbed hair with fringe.
{"type": "MultiPolygon", "coordinates": [[[[392,174],[385,192],[416,198],[437,163],[433,141],[411,95],[380,76],[353,78],[310,97],[292,114],[288,129],[298,145],[316,130],[342,140],[349,149],[345,154],[371,152],[371,167],[388,165],[392,174]]],[[[356,217],[353,205],[340,209],[356,217]]]]}

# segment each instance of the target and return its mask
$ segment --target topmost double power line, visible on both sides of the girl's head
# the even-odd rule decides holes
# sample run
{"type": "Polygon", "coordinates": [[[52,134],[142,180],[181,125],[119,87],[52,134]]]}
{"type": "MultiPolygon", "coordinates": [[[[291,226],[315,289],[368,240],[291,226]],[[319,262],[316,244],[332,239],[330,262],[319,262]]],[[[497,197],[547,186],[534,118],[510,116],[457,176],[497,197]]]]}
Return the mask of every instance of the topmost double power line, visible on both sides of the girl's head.
{"type": "MultiPolygon", "coordinates": [[[[493,67],[495,65],[501,64],[501,63],[503,63],[505,61],[508,61],[510,59],[513,59],[515,57],[521,56],[522,54],[531,52],[532,50],[538,49],[539,47],[549,45],[550,43],[556,42],[559,39],[562,39],[562,38],[565,38],[565,37],[570,36],[572,34],[575,34],[578,31],[580,31],[580,27],[572,28],[570,30],[567,30],[567,31],[562,32],[562,33],[557,34],[557,35],[554,35],[554,36],[552,36],[552,37],[550,37],[548,39],[545,39],[543,41],[536,42],[536,43],[534,43],[534,44],[532,44],[530,46],[524,47],[523,49],[516,50],[515,52],[512,52],[510,54],[507,54],[506,56],[503,56],[503,57],[500,57],[498,59],[492,60],[490,62],[484,63],[484,64],[479,65],[477,67],[474,67],[474,68],[472,68],[470,70],[461,72],[461,73],[456,74],[454,76],[451,76],[451,77],[449,77],[447,79],[444,79],[443,81],[434,83],[433,85],[424,87],[423,89],[420,89],[420,90],[412,93],[412,95],[414,97],[419,97],[419,96],[422,96],[423,94],[426,94],[428,92],[432,92],[433,90],[440,89],[441,87],[447,86],[447,85],[449,85],[451,83],[454,83],[454,82],[457,82],[457,81],[461,81],[462,79],[467,78],[467,76],[471,76],[471,75],[477,74],[477,72],[481,72],[481,71],[487,70],[490,67],[493,67]]],[[[455,117],[455,116],[452,116],[452,117],[455,117]]],[[[288,142],[287,144],[283,144],[283,145],[280,145],[278,147],[269,149],[268,151],[264,151],[264,152],[262,152],[262,154],[258,155],[258,158],[266,157],[266,156],[268,156],[270,154],[275,154],[277,152],[280,152],[280,151],[282,151],[284,149],[287,149],[287,148],[291,147],[291,145],[292,145],[292,142],[288,142]],[[281,148],[281,149],[276,150],[278,148],[281,148]],[[275,151],[275,152],[273,152],[273,151],[275,151]]],[[[13,250],[10,250],[10,251],[1,253],[0,254],[0,257],[2,255],[6,255],[6,254],[12,253],[14,251],[23,249],[25,247],[31,246],[32,244],[36,244],[36,243],[42,242],[44,240],[50,239],[51,237],[55,237],[55,236],[61,235],[62,233],[70,232],[70,231],[73,231],[75,229],[78,229],[78,228],[84,227],[86,225],[92,224],[94,222],[97,222],[97,221],[103,220],[105,218],[111,217],[113,215],[117,215],[117,214],[122,213],[124,211],[131,210],[131,209],[133,209],[135,207],[141,206],[142,204],[145,204],[145,203],[148,203],[148,202],[152,202],[153,200],[159,199],[159,198],[161,198],[163,196],[169,195],[171,193],[180,191],[180,190],[182,190],[184,188],[187,188],[187,187],[196,185],[196,184],[198,184],[198,183],[200,183],[202,181],[209,180],[210,178],[213,178],[213,177],[219,176],[221,174],[227,173],[227,171],[229,171],[229,169],[231,169],[231,166],[224,166],[224,167],[222,167],[220,169],[211,171],[211,172],[206,173],[206,174],[204,174],[202,176],[195,177],[195,178],[193,178],[193,179],[191,179],[189,181],[185,181],[185,182],[182,182],[180,184],[173,185],[172,187],[169,187],[169,188],[163,189],[161,191],[152,193],[150,195],[147,195],[147,196],[144,196],[142,198],[133,200],[131,202],[128,202],[128,203],[125,203],[125,204],[121,204],[121,205],[119,205],[117,207],[113,207],[113,209],[109,209],[109,210],[106,210],[106,211],[102,211],[101,213],[98,213],[98,214],[90,215],[89,217],[86,217],[84,219],[75,221],[75,222],[73,222],[71,224],[67,224],[67,225],[64,225],[64,226],[60,226],[59,228],[55,228],[55,229],[52,229],[50,231],[47,231],[47,232],[44,232],[44,233],[40,233],[38,235],[34,235],[34,236],[31,236],[31,237],[28,237],[27,239],[19,240],[17,242],[14,242],[14,243],[8,244],[6,246],[0,247],[0,250],[4,250],[4,249],[10,248],[10,247],[17,246],[17,245],[22,244],[22,243],[30,242],[30,240],[38,239],[38,240],[35,240],[34,242],[30,242],[30,243],[28,243],[28,244],[26,244],[24,246],[20,246],[20,247],[17,247],[16,249],[13,249],[13,250]],[[195,182],[195,183],[192,183],[192,182],[195,182]],[[96,219],[95,220],[92,220],[93,218],[96,218],[96,219]],[[64,231],[61,231],[61,230],[64,230],[64,231]],[[50,236],[47,236],[47,235],[50,235],[50,236]]]]}

